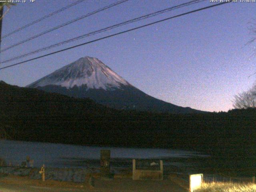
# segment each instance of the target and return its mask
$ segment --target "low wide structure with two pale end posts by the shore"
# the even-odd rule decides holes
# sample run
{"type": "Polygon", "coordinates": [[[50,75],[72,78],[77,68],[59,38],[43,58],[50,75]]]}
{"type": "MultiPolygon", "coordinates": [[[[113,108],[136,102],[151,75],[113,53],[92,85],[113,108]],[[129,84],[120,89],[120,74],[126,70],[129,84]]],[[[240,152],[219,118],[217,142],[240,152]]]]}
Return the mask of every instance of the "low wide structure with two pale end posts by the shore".
{"type": "Polygon", "coordinates": [[[132,160],[133,180],[163,180],[163,161],[148,159],[132,160]]]}

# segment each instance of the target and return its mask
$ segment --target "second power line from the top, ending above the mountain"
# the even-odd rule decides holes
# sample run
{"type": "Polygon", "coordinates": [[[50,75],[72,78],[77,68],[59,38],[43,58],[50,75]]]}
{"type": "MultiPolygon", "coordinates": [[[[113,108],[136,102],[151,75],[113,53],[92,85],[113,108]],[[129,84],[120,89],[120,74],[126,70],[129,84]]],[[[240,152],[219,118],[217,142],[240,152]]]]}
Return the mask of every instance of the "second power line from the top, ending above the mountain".
{"type": "Polygon", "coordinates": [[[6,50],[8,50],[8,49],[10,49],[10,48],[13,48],[13,47],[18,46],[18,45],[20,45],[20,44],[23,44],[23,43],[25,43],[25,42],[28,42],[28,41],[30,41],[30,40],[32,40],[32,39],[35,39],[35,38],[37,38],[37,37],[40,37],[40,36],[46,34],[46,33],[52,32],[52,31],[54,31],[54,30],[56,30],[56,29],[58,29],[58,28],[64,27],[64,26],[69,25],[69,24],[71,24],[71,23],[73,23],[73,22],[76,22],[76,21],[78,21],[78,20],[81,20],[81,19],[83,19],[83,18],[86,18],[86,17],[88,17],[88,16],[91,16],[91,15],[93,15],[93,14],[96,14],[96,13],[101,12],[101,11],[103,11],[103,10],[106,10],[106,9],[108,9],[108,8],[114,7],[114,6],[118,5],[118,4],[124,3],[124,2],[126,2],[126,1],[128,1],[128,0],[120,0],[120,1],[118,1],[118,2],[115,2],[115,3],[113,3],[113,4],[110,4],[110,5],[108,5],[108,6],[105,6],[105,7],[103,7],[103,8],[100,8],[100,9],[98,9],[98,10],[96,10],[96,11],[90,12],[90,13],[88,13],[88,14],[86,14],[86,15],[83,15],[83,16],[80,16],[80,17],[78,17],[78,18],[76,18],[76,19],[70,20],[70,21],[68,21],[68,22],[66,22],[66,23],[64,23],[64,24],[58,25],[58,26],[56,26],[56,27],[54,27],[54,28],[51,28],[51,29],[49,29],[49,30],[46,30],[46,31],[44,31],[44,32],[42,32],[42,33],[40,33],[40,34],[34,35],[34,36],[30,37],[30,38],[27,38],[27,39],[25,39],[25,40],[23,40],[23,41],[20,41],[20,42],[16,43],[16,44],[13,44],[13,45],[11,45],[11,46],[9,46],[9,47],[7,47],[7,48],[4,48],[4,49],[0,50],[0,52],[4,52],[4,51],[6,51],[6,50]]]}

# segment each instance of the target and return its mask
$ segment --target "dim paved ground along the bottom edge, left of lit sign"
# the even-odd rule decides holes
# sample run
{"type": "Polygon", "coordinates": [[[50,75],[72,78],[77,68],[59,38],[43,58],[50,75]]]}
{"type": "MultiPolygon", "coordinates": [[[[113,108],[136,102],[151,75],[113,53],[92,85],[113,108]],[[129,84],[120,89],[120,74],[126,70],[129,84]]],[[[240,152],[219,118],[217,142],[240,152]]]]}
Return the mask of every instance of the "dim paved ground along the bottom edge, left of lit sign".
{"type": "MultiPolygon", "coordinates": [[[[62,186],[36,186],[33,181],[9,184],[0,180],[0,192],[187,192],[174,182],[166,179],[162,181],[133,181],[130,178],[114,179],[112,181],[95,180],[95,187],[84,186],[79,188],[65,188],[62,186]],[[1,182],[2,181],[2,182],[1,182]]],[[[47,184],[47,183],[46,183],[47,184]]],[[[60,182],[61,185],[61,182],[60,182]]],[[[82,184],[81,184],[82,185],[82,184]]]]}

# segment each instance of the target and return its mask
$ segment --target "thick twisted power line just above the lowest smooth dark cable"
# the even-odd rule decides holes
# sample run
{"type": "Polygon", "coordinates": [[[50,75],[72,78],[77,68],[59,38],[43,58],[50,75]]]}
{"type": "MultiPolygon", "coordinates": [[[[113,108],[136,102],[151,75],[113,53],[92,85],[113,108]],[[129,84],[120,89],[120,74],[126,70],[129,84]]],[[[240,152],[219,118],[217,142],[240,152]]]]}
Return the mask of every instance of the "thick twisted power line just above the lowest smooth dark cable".
{"type": "Polygon", "coordinates": [[[7,62],[10,62],[10,61],[13,61],[13,60],[17,60],[17,59],[20,59],[20,58],[24,58],[26,56],[29,56],[29,55],[32,55],[32,54],[36,54],[38,52],[42,52],[44,50],[48,50],[50,48],[54,48],[54,47],[57,47],[57,46],[61,46],[63,44],[66,44],[66,43],[69,43],[69,42],[73,42],[73,41],[76,41],[76,40],[80,40],[82,38],[85,38],[85,37],[88,37],[88,36],[92,36],[92,35],[95,35],[95,34],[98,34],[98,33],[102,33],[102,32],[106,32],[108,30],[112,30],[114,28],[117,28],[119,26],[123,26],[123,25],[126,25],[126,24],[130,24],[130,23],[133,23],[133,22],[137,22],[137,21],[140,21],[140,20],[143,20],[143,19],[146,19],[146,18],[150,18],[150,17],[153,17],[153,16],[156,16],[156,15],[159,15],[159,14],[162,14],[162,13],[165,13],[165,12],[168,12],[168,11],[171,11],[171,10],[174,10],[174,9],[178,9],[178,8],[182,8],[182,7],[185,7],[185,6],[189,6],[189,5],[192,5],[192,4],[196,4],[196,3],[199,3],[199,2],[203,2],[203,1],[206,1],[206,0],[192,0],[190,2],[187,2],[187,3],[183,3],[183,4],[180,4],[180,5],[177,5],[177,6],[172,6],[170,8],[166,8],[164,10],[160,10],[160,11],[157,11],[157,12],[153,12],[151,14],[147,14],[147,15],[144,15],[144,16],[140,16],[140,17],[137,17],[137,18],[134,18],[134,19],[131,19],[131,20],[127,20],[125,22],[121,22],[119,24],[115,24],[115,25],[112,25],[112,26],[109,26],[107,28],[103,28],[103,29],[100,29],[100,30],[96,30],[94,32],[90,32],[88,34],[84,34],[84,35],[81,35],[81,36],[78,36],[78,37],[75,37],[75,38],[71,38],[69,40],[66,40],[66,41],[63,41],[63,42],[59,42],[59,43],[56,43],[56,44],[53,44],[51,46],[46,46],[44,48],[40,48],[38,50],[34,50],[32,52],[29,52],[29,53],[26,53],[26,54],[23,54],[23,55],[20,55],[20,56],[16,56],[14,58],[10,58],[8,60],[4,60],[2,62],[0,62],[0,64],[2,63],[7,63],[7,62]]]}

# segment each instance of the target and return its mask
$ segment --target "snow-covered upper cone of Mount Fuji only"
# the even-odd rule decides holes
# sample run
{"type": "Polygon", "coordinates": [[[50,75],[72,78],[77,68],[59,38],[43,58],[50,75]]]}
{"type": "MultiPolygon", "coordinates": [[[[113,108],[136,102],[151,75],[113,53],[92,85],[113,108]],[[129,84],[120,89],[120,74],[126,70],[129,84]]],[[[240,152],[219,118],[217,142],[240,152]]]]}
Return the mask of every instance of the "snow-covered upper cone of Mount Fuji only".
{"type": "Polygon", "coordinates": [[[28,87],[47,85],[68,89],[74,86],[86,86],[87,89],[111,90],[130,84],[97,58],[86,56],[37,80],[28,87]]]}

